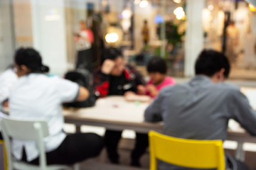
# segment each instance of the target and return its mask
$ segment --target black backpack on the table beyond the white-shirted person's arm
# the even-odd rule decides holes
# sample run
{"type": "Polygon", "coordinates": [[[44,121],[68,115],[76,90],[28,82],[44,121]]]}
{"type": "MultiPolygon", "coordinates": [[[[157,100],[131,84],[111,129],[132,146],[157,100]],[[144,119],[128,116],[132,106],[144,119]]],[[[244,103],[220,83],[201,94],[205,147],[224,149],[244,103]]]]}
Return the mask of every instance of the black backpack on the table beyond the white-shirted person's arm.
{"type": "Polygon", "coordinates": [[[90,72],[87,69],[78,69],[75,71],[70,71],[65,74],[65,79],[76,82],[80,86],[84,86],[90,92],[89,98],[86,101],[74,101],[71,103],[63,103],[65,108],[87,108],[95,106],[95,101],[97,96],[92,91],[92,86],[90,86],[90,72]]]}

